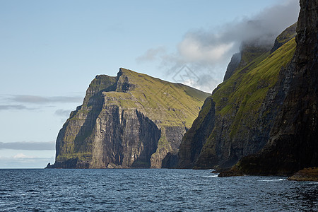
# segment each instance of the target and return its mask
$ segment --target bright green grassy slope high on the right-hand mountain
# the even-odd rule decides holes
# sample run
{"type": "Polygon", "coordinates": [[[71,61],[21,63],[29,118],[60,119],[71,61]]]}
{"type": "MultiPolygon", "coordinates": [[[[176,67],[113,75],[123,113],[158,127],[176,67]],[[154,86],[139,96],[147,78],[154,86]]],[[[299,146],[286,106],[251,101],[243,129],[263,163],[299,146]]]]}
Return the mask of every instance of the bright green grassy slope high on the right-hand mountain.
{"type": "Polygon", "coordinates": [[[295,52],[295,38],[272,54],[264,53],[257,59],[238,70],[227,81],[220,84],[213,93],[213,100],[223,114],[239,102],[246,100],[247,105],[261,102],[266,92],[278,79],[278,73],[286,66],[295,52]]]}

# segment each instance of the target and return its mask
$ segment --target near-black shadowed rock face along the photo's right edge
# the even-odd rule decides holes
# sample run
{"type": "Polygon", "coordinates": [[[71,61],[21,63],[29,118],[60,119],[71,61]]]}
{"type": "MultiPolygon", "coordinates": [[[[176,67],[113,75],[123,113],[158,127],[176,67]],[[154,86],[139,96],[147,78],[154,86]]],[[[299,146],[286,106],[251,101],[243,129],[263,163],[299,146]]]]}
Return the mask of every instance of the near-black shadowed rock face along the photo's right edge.
{"type": "Polygon", "coordinates": [[[318,165],[318,1],[301,0],[297,49],[279,76],[285,93],[271,136],[264,149],[242,158],[223,175],[290,175],[318,165]]]}

